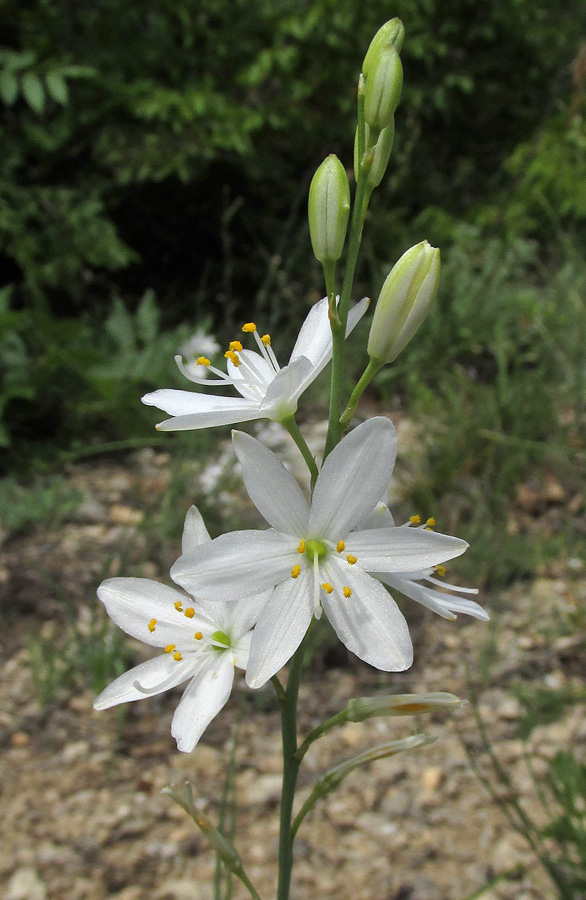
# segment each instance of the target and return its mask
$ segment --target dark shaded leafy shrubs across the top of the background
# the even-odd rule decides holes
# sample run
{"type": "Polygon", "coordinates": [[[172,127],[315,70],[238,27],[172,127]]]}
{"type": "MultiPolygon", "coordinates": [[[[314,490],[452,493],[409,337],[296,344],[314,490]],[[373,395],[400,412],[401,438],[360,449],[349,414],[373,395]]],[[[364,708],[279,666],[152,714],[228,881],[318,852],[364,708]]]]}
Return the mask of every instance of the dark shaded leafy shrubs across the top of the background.
{"type": "MultiPolygon", "coordinates": [[[[7,280],[20,302],[44,298],[59,312],[104,302],[113,286],[135,296],[152,286],[175,321],[204,274],[225,318],[220,235],[235,198],[233,280],[250,299],[280,223],[304,207],[311,168],[332,149],[350,163],[356,76],[386,18],[401,16],[408,40],[384,202],[408,221],[429,204],[459,213],[490,196],[501,161],[568,81],[586,17],[554,0],[0,9],[7,280]]],[[[305,288],[308,276],[297,280],[305,288]]]]}

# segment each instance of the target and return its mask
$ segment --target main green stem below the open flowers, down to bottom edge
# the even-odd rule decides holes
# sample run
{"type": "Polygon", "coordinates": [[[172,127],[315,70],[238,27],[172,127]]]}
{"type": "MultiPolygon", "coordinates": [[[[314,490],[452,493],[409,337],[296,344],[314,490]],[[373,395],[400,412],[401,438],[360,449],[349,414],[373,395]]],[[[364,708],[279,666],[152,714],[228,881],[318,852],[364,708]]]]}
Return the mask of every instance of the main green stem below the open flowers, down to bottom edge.
{"type": "Polygon", "coordinates": [[[281,702],[281,733],[283,738],[283,788],[281,791],[281,826],[279,832],[279,886],[277,900],[289,900],[291,869],[293,866],[293,833],[291,818],[299,772],[297,760],[297,697],[303,666],[304,644],[291,660],[285,698],[281,702]]]}

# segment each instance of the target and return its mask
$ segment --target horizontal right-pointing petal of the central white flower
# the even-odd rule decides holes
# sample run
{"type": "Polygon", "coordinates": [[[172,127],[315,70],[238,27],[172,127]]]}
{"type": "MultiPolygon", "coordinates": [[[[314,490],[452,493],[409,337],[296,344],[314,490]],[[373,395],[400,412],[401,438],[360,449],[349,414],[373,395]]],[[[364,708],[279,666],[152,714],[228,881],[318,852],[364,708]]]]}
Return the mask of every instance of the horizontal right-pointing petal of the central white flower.
{"type": "Polygon", "coordinates": [[[414,572],[460,556],[468,544],[424,528],[373,528],[353,531],[346,551],[367,572],[414,572]]]}

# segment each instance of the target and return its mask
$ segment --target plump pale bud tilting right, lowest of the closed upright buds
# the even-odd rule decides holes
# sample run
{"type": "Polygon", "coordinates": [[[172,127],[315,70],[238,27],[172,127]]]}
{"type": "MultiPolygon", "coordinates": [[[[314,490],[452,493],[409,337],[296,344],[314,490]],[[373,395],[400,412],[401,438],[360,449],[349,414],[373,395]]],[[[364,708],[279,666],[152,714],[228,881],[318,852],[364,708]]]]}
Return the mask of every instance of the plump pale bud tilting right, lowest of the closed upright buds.
{"type": "Polygon", "coordinates": [[[422,241],[407,250],[389,272],[374,310],[368,355],[390,363],[409,343],[437,294],[440,252],[422,241]]]}

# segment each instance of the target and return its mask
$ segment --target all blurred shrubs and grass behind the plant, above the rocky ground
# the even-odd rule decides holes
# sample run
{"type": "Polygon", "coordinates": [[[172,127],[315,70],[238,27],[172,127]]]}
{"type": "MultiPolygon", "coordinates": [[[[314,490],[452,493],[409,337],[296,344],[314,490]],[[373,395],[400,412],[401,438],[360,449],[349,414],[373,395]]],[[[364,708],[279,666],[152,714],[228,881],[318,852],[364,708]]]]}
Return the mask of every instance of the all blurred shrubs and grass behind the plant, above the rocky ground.
{"type": "Polygon", "coordinates": [[[584,4],[0,11],[0,458],[16,477],[164,442],[139,398],[180,385],[196,325],[225,341],[255,316],[288,351],[323,292],[309,181],[330,152],[350,167],[364,48],[398,15],[405,87],[358,280],[376,295],[409,244],[442,248],[437,307],[380,379],[425,433],[411,500],[477,539],[476,577],[572,554],[570,520],[505,524],[520,484],[553,473],[572,496],[584,475],[584,4]]]}

